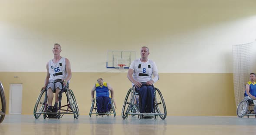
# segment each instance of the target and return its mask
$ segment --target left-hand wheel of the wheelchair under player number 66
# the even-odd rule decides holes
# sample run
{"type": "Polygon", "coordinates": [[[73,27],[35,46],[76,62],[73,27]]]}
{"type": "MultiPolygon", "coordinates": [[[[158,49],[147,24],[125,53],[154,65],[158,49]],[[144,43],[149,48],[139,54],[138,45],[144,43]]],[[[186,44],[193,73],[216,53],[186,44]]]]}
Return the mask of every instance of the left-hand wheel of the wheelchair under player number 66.
{"type": "Polygon", "coordinates": [[[36,114],[36,113],[42,113],[43,109],[45,108],[46,105],[46,90],[42,90],[40,95],[38,96],[37,100],[36,100],[36,105],[34,107],[34,116],[36,119],[38,119],[41,114],[36,114]]]}

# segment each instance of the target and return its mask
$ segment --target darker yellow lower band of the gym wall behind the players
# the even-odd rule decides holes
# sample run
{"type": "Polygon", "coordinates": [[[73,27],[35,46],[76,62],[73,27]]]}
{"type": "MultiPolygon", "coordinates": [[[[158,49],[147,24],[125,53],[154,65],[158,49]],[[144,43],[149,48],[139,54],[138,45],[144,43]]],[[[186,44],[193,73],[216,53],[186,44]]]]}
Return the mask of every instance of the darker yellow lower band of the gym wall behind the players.
{"type": "MultiPolygon", "coordinates": [[[[90,91],[98,77],[112,85],[115,90],[117,115],[131,83],[127,73],[73,73],[70,89],[73,90],[81,115],[88,115],[91,106],[90,91]]],[[[43,72],[0,72],[9,109],[11,83],[23,84],[22,114],[33,114],[36,98],[43,86],[43,72]],[[18,76],[18,78],[14,78],[18,76]]],[[[168,116],[235,115],[233,74],[160,73],[155,84],[164,96],[168,116]]],[[[66,101],[62,100],[62,104],[66,101]]]]}

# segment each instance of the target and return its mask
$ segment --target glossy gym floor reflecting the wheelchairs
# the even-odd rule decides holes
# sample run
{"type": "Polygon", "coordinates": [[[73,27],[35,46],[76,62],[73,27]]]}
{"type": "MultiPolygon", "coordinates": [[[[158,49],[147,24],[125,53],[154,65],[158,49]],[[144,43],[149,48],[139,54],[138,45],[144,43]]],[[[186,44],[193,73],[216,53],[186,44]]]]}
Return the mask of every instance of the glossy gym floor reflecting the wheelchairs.
{"type": "Polygon", "coordinates": [[[64,115],[61,119],[35,119],[32,115],[6,115],[0,135],[256,135],[254,116],[167,116],[165,120],[121,116],[64,115]]]}

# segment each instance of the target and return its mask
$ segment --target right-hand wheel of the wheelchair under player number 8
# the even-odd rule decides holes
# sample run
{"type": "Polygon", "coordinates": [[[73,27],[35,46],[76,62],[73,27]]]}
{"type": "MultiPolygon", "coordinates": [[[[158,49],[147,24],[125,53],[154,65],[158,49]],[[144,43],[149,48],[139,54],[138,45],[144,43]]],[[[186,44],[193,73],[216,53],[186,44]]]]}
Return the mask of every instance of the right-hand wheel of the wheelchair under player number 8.
{"type": "Polygon", "coordinates": [[[155,88],[155,106],[156,106],[156,111],[158,113],[164,113],[164,115],[159,115],[161,119],[166,118],[166,106],[164,103],[164,98],[162,96],[161,91],[158,88],[155,88]]]}

